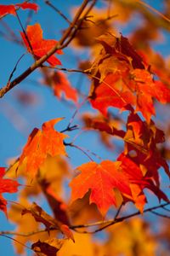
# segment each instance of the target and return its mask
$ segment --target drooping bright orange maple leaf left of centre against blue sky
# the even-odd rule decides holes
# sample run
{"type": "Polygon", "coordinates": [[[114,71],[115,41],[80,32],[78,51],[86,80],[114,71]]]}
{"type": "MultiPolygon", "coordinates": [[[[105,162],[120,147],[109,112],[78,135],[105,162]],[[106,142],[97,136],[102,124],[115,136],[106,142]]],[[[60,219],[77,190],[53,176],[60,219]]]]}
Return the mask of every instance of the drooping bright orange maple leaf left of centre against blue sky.
{"type": "Polygon", "coordinates": [[[20,155],[19,166],[26,160],[26,172],[31,176],[37,174],[38,168],[51,156],[66,155],[63,140],[66,135],[54,130],[54,125],[62,118],[51,119],[42,124],[42,131],[35,128],[20,155]]]}

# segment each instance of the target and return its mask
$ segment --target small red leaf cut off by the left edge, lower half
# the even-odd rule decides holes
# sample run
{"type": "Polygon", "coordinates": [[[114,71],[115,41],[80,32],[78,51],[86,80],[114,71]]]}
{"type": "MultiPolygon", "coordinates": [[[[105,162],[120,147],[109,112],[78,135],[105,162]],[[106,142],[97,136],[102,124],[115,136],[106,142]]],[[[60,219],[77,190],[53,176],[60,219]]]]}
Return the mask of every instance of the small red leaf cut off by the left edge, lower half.
{"type": "Polygon", "coordinates": [[[12,179],[3,178],[4,174],[5,168],[0,167],[0,210],[7,214],[7,201],[3,198],[2,193],[17,192],[20,184],[12,179]]]}

